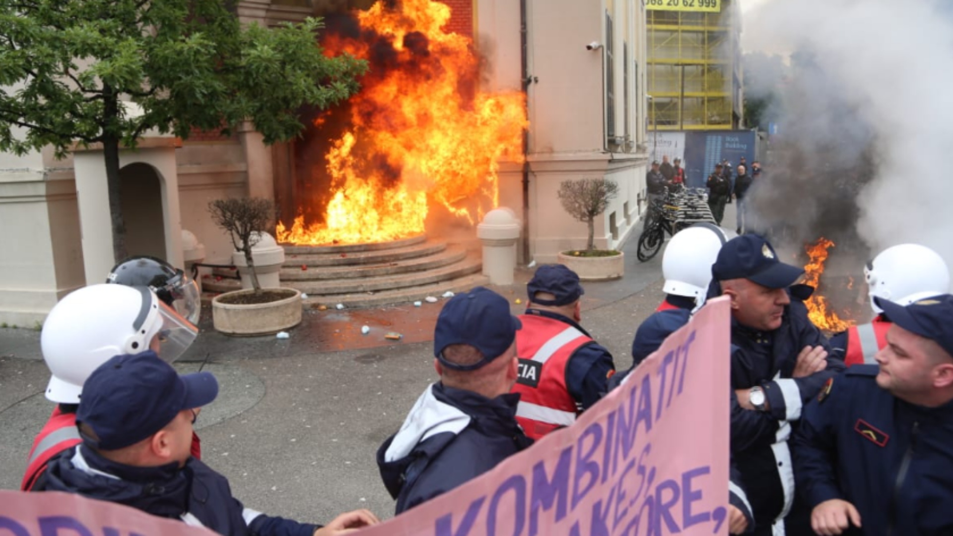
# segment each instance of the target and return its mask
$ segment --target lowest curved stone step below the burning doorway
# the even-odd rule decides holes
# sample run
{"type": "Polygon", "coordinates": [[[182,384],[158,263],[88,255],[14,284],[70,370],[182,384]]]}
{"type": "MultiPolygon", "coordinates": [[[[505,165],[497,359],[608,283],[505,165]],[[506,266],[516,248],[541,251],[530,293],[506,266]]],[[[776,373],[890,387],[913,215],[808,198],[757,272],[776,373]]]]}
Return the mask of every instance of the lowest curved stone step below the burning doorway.
{"type": "Polygon", "coordinates": [[[482,263],[479,258],[463,258],[453,264],[420,272],[372,278],[282,281],[282,286],[296,288],[309,296],[378,292],[428,285],[447,279],[461,278],[479,272],[481,267],[482,263]]]}

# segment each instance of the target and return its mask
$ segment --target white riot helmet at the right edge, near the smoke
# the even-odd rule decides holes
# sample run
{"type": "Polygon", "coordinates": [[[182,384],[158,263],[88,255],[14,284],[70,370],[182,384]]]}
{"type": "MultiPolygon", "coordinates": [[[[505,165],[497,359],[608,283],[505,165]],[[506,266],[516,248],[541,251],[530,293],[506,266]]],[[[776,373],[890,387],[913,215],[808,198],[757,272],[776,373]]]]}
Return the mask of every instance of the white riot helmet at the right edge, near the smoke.
{"type": "Polygon", "coordinates": [[[940,254],[920,244],[901,244],[887,248],[863,267],[870,293],[870,306],[877,314],[883,310],[874,298],[909,305],[918,297],[946,294],[950,274],[940,254]]]}

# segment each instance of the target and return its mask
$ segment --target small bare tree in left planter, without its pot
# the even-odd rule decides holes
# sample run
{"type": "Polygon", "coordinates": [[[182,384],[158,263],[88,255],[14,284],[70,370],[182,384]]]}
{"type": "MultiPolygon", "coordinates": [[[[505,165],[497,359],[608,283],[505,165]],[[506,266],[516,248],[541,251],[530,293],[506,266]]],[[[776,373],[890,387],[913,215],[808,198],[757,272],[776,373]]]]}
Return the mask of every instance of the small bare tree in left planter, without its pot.
{"type": "Polygon", "coordinates": [[[235,251],[245,254],[254,293],[261,294],[252,248],[261,239],[261,233],[268,232],[274,224],[274,202],[262,197],[215,199],[209,203],[209,212],[215,225],[228,231],[235,251]]]}

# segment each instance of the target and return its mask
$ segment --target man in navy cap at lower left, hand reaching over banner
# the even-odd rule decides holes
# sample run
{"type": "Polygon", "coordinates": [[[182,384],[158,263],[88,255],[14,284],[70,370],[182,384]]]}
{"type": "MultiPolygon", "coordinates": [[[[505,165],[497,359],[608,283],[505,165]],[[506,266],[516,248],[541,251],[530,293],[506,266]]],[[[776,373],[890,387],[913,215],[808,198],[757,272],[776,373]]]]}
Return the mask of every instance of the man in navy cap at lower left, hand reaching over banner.
{"type": "Polygon", "coordinates": [[[228,479],[190,455],[196,408],[218,395],[215,377],[179,376],[148,346],[140,348],[92,371],[76,412],[83,441],[51,461],[36,491],[126,505],[222,536],[335,536],[377,523],[367,510],[322,527],[245,508],[228,479]]]}

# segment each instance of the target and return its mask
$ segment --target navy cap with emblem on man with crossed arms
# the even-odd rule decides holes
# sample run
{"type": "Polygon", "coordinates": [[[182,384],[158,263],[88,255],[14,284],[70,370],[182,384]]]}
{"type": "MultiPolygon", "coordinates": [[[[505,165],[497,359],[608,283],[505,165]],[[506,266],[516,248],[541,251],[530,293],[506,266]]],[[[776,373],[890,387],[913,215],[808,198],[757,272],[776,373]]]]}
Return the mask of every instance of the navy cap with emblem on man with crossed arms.
{"type": "Polygon", "coordinates": [[[748,279],[767,288],[787,288],[803,273],[803,269],[778,260],[771,243],[758,235],[728,240],[712,265],[712,276],[717,281],[748,279]]]}

